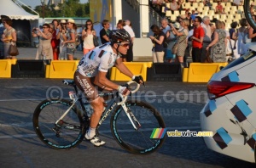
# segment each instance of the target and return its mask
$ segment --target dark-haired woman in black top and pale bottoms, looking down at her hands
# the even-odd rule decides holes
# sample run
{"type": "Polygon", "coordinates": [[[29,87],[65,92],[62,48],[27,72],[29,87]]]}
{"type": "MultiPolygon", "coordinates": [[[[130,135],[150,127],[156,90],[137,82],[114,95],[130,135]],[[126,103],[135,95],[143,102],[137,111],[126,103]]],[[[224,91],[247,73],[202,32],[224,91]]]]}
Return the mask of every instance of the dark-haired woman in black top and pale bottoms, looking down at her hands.
{"type": "Polygon", "coordinates": [[[151,31],[154,32],[154,36],[149,36],[149,38],[153,43],[153,48],[152,48],[153,62],[163,63],[164,55],[165,55],[164,47],[163,47],[165,33],[160,30],[160,27],[158,25],[151,25],[150,29],[151,31]]]}

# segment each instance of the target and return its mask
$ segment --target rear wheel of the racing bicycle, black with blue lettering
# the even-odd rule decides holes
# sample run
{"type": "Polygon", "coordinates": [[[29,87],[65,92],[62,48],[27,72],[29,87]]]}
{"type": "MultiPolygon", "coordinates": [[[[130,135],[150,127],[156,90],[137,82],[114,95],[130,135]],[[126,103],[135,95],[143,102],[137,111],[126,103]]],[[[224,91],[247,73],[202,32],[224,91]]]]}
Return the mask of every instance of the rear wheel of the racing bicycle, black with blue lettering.
{"type": "Polygon", "coordinates": [[[71,109],[73,111],[67,113],[61,120],[61,124],[55,126],[55,121],[70,105],[71,100],[45,99],[34,111],[32,118],[34,131],[39,139],[50,148],[62,150],[74,148],[84,139],[83,120],[76,105],[71,109]]]}

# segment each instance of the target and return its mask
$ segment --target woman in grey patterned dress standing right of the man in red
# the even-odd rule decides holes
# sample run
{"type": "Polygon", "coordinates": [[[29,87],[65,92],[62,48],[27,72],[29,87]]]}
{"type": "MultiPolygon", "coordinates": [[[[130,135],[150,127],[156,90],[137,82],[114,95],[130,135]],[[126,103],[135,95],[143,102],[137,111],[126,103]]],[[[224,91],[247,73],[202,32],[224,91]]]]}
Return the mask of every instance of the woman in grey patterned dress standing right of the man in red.
{"type": "Polygon", "coordinates": [[[223,24],[221,21],[216,22],[216,30],[213,33],[213,40],[208,45],[207,51],[211,48],[210,58],[214,63],[224,63],[226,62],[226,53],[225,53],[225,39],[226,33],[222,29],[223,24]]]}

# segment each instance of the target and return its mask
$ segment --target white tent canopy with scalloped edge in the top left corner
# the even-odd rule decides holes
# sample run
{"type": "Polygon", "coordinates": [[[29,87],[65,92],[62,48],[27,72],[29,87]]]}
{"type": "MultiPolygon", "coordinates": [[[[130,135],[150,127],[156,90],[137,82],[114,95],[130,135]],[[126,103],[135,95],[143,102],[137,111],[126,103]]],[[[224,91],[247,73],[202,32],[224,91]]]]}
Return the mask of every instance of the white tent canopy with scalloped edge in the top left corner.
{"type": "Polygon", "coordinates": [[[38,20],[39,15],[27,13],[12,0],[0,0],[0,15],[9,16],[12,20],[38,20]]]}

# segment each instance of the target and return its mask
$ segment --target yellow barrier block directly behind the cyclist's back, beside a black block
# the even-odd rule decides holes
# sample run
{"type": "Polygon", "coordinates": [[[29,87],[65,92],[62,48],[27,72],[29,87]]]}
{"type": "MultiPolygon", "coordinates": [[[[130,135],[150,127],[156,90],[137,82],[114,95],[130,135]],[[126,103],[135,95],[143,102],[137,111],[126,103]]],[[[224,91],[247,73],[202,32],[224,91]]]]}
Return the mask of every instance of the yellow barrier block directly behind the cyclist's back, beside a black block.
{"type": "Polygon", "coordinates": [[[73,74],[77,70],[79,60],[52,60],[46,66],[45,77],[73,79],[73,74]]]}

